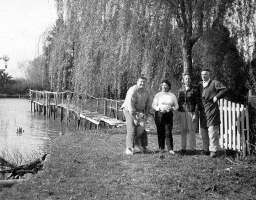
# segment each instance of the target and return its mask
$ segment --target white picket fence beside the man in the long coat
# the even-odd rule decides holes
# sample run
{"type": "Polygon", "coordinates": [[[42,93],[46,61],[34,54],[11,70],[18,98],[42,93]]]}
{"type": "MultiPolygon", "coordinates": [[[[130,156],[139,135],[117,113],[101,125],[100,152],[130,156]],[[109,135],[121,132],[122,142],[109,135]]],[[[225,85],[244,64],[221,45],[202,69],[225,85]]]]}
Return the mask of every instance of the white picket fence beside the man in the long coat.
{"type": "MultiPolygon", "coordinates": [[[[250,154],[248,106],[220,99],[220,147],[250,154]]],[[[200,124],[200,123],[199,123],[200,124]]],[[[199,134],[200,125],[199,125],[199,134]]]]}

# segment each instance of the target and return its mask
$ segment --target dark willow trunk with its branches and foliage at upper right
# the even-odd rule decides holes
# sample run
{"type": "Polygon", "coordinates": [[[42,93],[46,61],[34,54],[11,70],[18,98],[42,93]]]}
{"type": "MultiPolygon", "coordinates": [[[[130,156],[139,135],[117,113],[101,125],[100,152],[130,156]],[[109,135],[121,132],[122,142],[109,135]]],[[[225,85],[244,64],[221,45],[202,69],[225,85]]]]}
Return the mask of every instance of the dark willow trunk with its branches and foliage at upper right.
{"type": "Polygon", "coordinates": [[[193,45],[213,24],[226,24],[236,32],[235,34],[244,38],[248,36],[249,27],[255,20],[254,0],[161,0],[155,2],[157,4],[161,2],[168,7],[180,30],[183,73],[192,74],[193,45]]]}

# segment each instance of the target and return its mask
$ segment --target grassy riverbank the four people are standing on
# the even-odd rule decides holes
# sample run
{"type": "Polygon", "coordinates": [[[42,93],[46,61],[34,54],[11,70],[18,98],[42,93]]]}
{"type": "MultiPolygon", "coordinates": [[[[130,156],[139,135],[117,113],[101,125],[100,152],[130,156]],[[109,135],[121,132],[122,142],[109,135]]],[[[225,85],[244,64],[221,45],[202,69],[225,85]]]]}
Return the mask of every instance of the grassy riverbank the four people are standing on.
{"type": "Polygon", "coordinates": [[[0,190],[1,199],[256,199],[256,158],[220,150],[214,159],[197,151],[181,154],[174,127],[175,155],[160,154],[155,129],[153,154],[125,152],[126,128],[81,131],[52,143],[44,170],[0,190]]]}

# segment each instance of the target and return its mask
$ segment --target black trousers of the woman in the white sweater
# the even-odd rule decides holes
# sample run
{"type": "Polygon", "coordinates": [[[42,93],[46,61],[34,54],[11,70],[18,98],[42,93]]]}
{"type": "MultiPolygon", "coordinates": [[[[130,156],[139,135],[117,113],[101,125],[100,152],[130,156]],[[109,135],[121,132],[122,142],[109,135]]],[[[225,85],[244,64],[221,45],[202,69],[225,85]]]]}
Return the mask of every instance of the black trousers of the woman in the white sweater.
{"type": "Polygon", "coordinates": [[[155,124],[158,134],[159,149],[165,148],[165,140],[168,151],[173,150],[172,126],[173,113],[155,112],[155,124]]]}

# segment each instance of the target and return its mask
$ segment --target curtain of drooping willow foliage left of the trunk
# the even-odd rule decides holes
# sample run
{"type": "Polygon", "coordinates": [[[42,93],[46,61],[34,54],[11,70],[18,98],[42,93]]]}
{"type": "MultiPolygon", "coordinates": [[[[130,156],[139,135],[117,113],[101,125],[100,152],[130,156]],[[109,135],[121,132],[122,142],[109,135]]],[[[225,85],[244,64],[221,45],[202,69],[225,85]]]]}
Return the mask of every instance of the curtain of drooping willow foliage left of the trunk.
{"type": "Polygon", "coordinates": [[[63,24],[53,31],[49,74],[60,88],[72,41],[70,81],[77,93],[123,98],[138,76],[149,87],[178,74],[179,45],[164,6],[147,0],[56,1],[63,24]],[[175,66],[172,68],[171,66],[175,66]],[[62,80],[62,79],[61,79],[62,80]]]}

